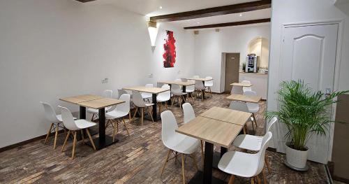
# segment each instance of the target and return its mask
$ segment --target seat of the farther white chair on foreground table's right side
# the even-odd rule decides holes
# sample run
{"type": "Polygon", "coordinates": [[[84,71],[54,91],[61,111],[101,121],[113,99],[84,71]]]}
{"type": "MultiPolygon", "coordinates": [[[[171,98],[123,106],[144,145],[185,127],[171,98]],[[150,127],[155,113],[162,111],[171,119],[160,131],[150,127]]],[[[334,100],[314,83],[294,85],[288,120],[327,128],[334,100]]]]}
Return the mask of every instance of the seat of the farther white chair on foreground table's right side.
{"type": "Polygon", "coordinates": [[[242,134],[235,138],[234,142],[232,142],[232,145],[246,150],[259,151],[262,146],[262,141],[262,136],[242,134]]]}

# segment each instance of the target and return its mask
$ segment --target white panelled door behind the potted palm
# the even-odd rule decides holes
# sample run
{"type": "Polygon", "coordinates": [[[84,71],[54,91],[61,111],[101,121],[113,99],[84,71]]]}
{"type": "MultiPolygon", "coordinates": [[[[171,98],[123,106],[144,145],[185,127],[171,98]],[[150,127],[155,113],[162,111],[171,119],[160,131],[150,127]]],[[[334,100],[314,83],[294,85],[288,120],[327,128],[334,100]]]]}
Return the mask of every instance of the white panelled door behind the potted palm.
{"type": "MultiPolygon", "coordinates": [[[[338,24],[285,27],[283,31],[281,80],[302,79],[313,90],[332,91],[338,24]]],[[[332,130],[308,141],[309,160],[327,164],[330,134],[332,130]]]]}

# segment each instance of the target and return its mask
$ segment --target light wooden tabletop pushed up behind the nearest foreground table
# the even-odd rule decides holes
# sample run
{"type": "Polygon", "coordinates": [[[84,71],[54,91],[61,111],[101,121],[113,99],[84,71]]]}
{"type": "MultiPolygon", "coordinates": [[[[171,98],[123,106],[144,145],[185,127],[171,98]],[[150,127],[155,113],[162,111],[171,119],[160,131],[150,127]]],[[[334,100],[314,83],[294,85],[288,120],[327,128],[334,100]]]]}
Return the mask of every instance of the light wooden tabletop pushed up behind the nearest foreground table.
{"type": "Polygon", "coordinates": [[[210,108],[205,113],[200,114],[200,116],[205,118],[230,122],[232,124],[240,126],[244,126],[251,115],[251,113],[235,111],[229,108],[221,108],[216,106],[210,108]]]}

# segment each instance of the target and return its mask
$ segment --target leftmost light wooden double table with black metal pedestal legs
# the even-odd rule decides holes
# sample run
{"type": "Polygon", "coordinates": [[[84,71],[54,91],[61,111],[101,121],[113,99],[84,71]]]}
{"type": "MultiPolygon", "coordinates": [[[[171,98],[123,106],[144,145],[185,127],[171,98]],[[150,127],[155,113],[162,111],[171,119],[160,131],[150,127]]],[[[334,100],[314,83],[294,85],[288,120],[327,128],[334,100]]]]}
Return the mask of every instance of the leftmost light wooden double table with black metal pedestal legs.
{"type": "MultiPolygon", "coordinates": [[[[71,104],[76,104],[80,106],[80,119],[86,119],[86,108],[95,108],[98,109],[98,138],[94,139],[94,144],[97,150],[101,150],[107,146],[110,146],[112,143],[117,141],[112,141],[111,136],[105,135],[105,107],[114,106],[117,104],[124,103],[118,99],[110,99],[99,97],[92,94],[80,95],[75,97],[66,97],[61,98],[61,101],[66,101],[71,104]]],[[[87,143],[91,146],[91,143],[87,143]]]]}

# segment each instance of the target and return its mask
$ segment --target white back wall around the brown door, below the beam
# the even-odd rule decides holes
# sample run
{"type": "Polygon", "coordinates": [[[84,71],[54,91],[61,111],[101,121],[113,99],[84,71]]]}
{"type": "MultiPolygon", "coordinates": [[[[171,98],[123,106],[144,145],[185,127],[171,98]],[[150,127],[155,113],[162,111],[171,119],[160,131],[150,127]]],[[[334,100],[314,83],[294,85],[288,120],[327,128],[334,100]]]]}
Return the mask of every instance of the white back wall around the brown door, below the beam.
{"type": "Polygon", "coordinates": [[[220,83],[222,52],[240,52],[240,62],[244,62],[248,43],[259,36],[269,40],[269,23],[226,27],[219,32],[214,29],[200,30],[199,34],[195,35],[195,74],[202,77],[212,76],[212,92],[223,92],[220,83]]]}

